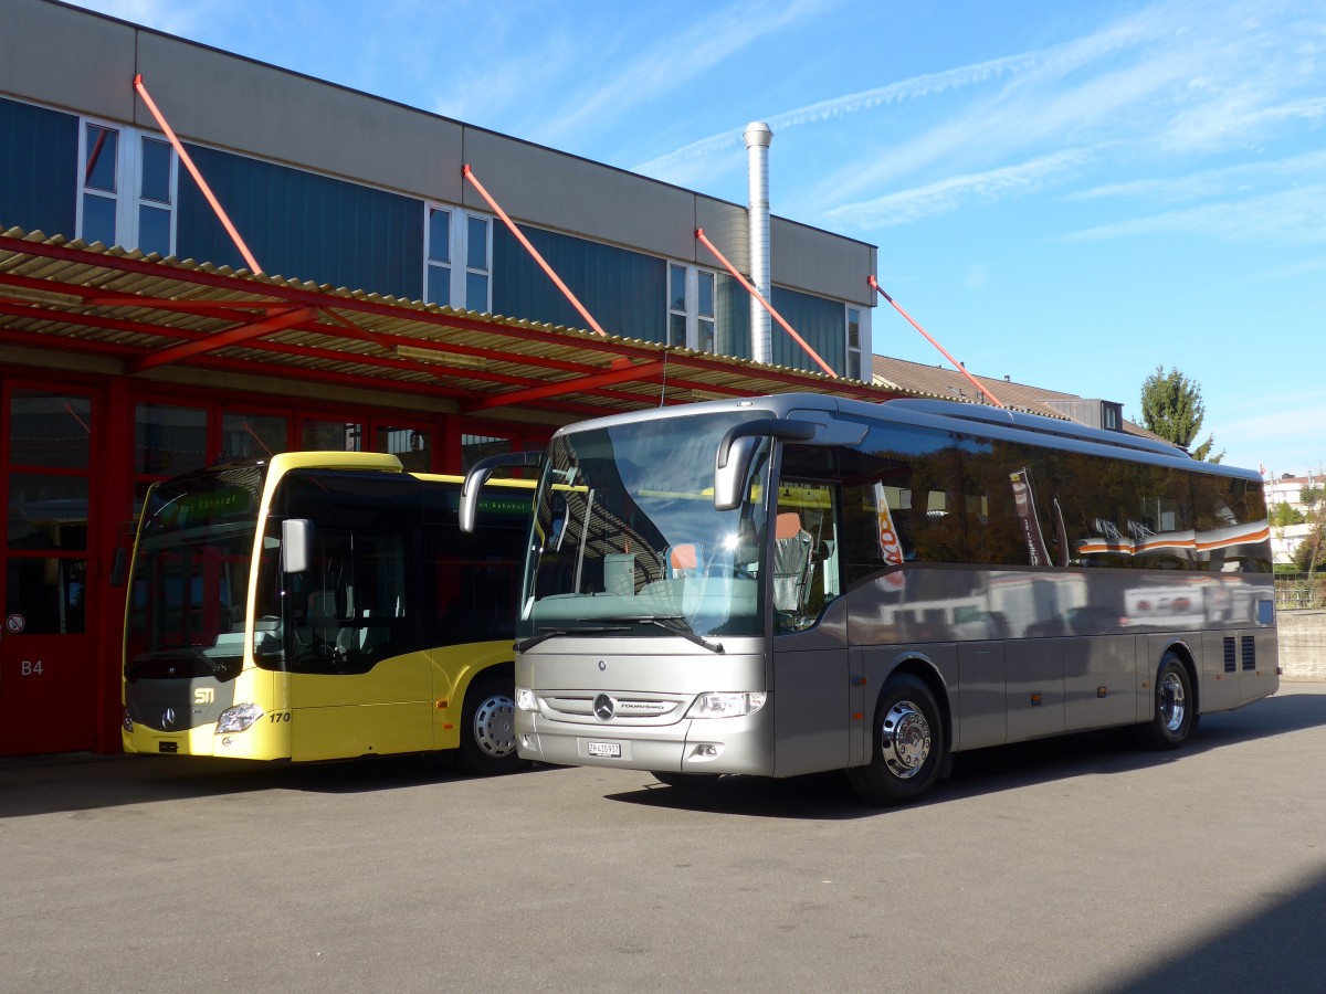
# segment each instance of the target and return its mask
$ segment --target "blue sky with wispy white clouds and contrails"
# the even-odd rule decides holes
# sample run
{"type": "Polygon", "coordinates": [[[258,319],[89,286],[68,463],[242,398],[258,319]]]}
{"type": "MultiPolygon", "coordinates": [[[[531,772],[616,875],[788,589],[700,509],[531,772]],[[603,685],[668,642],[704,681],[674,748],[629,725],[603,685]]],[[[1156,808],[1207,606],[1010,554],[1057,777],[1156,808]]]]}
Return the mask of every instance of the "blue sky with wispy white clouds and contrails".
{"type": "Polygon", "coordinates": [[[766,121],[774,213],[969,370],[1139,419],[1174,366],[1228,463],[1326,461],[1323,0],[82,5],[735,203],[766,121]]]}

